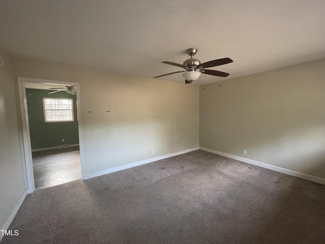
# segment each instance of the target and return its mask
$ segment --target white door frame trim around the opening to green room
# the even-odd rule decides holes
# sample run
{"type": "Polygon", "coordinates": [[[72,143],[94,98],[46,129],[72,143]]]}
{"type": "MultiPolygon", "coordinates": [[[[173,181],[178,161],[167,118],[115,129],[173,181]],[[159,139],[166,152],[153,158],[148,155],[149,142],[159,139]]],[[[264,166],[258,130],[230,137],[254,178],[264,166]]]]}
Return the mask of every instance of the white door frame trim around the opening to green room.
{"type": "Polygon", "coordinates": [[[78,131],[79,131],[79,148],[80,148],[80,160],[81,160],[81,178],[84,177],[84,164],[83,164],[83,141],[82,141],[82,128],[80,119],[80,92],[79,83],[57,81],[57,80],[43,80],[34,78],[17,77],[18,80],[18,92],[19,92],[19,104],[21,114],[21,127],[23,135],[24,155],[25,155],[25,166],[26,166],[26,179],[27,179],[27,193],[35,191],[34,185],[34,173],[32,170],[32,158],[31,158],[31,145],[30,145],[30,134],[29,134],[29,123],[28,123],[28,112],[27,112],[27,100],[26,100],[26,87],[25,82],[33,83],[53,83],[62,85],[73,85],[77,89],[77,116],[78,116],[78,131]]]}

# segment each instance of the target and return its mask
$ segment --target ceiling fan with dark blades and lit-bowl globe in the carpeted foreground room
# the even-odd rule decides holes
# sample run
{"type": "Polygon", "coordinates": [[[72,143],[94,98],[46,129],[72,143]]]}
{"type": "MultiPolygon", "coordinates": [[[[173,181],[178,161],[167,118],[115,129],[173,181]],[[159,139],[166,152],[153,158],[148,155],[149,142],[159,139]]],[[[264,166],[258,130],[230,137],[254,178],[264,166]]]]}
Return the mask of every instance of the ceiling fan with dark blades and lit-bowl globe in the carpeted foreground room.
{"type": "Polygon", "coordinates": [[[198,51],[197,48],[187,49],[186,52],[188,55],[191,56],[191,58],[186,59],[182,65],[172,63],[172,62],[167,62],[167,61],[161,62],[161,63],[167,64],[167,65],[181,67],[185,70],[168,73],[165,75],[159,75],[159,76],[156,76],[153,78],[159,78],[159,77],[163,77],[166,75],[172,75],[172,74],[176,74],[176,73],[183,73],[182,76],[185,78],[185,84],[188,84],[188,83],[192,83],[194,80],[197,80],[201,74],[214,75],[214,76],[220,76],[220,77],[229,76],[228,73],[217,71],[217,70],[206,70],[206,68],[232,63],[233,60],[231,58],[229,58],[229,57],[219,58],[219,59],[215,59],[215,60],[201,64],[199,59],[193,58],[193,56],[197,53],[197,51],[198,51]]]}

